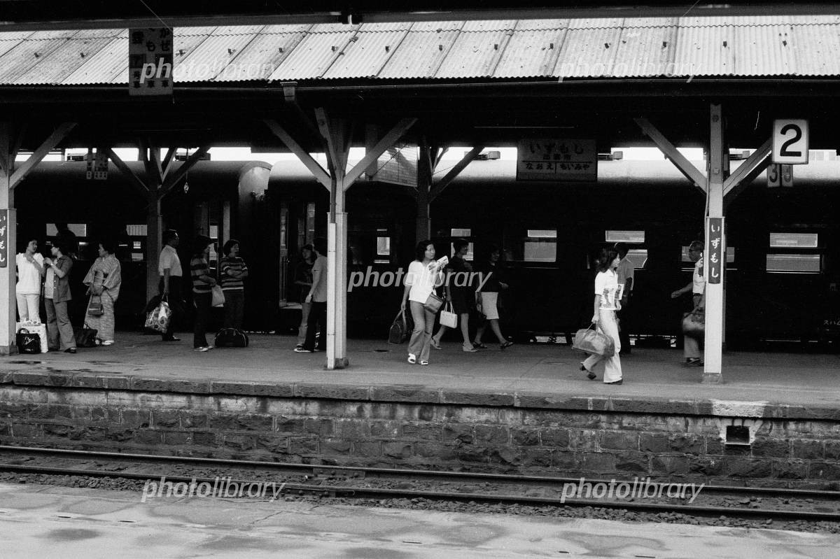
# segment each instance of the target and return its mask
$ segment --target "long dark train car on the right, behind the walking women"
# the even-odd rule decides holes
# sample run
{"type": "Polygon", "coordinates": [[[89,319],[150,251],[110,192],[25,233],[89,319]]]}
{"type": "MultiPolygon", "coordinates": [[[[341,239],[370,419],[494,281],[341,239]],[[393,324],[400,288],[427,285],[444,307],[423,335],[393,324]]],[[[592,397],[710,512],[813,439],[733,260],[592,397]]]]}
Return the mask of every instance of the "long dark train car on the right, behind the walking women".
{"type": "MultiPolygon", "coordinates": [[[[832,208],[840,202],[840,162],[814,161],[794,173],[789,188],[769,188],[761,175],[727,205],[730,347],[837,338],[840,220],[832,208]]],[[[298,294],[291,270],[300,246],[325,230],[328,192],[297,162],[272,170],[269,192],[267,202],[282,214],[283,230],[275,233],[278,303],[293,308],[298,294]]],[[[517,182],[515,161],[476,160],[433,201],[430,213],[438,254],[451,254],[454,238],[470,241],[468,259],[486,258],[491,244],[502,249],[511,285],[502,297],[502,330],[522,340],[568,336],[585,326],[593,253],[627,243],[636,265],[628,322],[641,343],[679,336],[688,303],[670,293],[690,281],[687,247],[701,238],[705,204],[701,191],[664,160],[600,161],[596,182],[565,184],[517,182]]],[[[373,280],[407,269],[412,259],[414,192],[360,182],[347,192],[347,206],[349,332],[381,337],[402,287],[373,280]]]]}

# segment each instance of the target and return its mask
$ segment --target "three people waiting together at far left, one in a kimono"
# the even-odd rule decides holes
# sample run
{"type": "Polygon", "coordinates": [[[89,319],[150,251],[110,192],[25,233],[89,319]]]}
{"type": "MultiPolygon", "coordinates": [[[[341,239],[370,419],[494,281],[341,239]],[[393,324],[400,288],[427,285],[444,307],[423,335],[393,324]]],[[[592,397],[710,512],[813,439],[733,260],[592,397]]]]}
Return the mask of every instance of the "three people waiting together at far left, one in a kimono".
{"type": "MultiPolygon", "coordinates": [[[[15,258],[18,281],[15,294],[18,318],[21,322],[38,324],[40,306],[44,301],[46,312],[47,347],[76,353],[76,336],[71,323],[68,304],[73,299],[70,278],[75,263],[76,247],[71,240],[56,238],[50,247],[50,257],[38,252],[38,239],[31,238],[23,253],[15,258]]],[[[88,301],[84,324],[97,331],[97,345],[109,346],[114,342],[114,302],[119,297],[122,274],[119,260],[114,256],[116,245],[103,239],[97,243],[97,259],[83,280],[87,285],[88,301]],[[91,302],[99,301],[98,311],[91,302]],[[93,312],[93,314],[92,314],[93,312]]]]}

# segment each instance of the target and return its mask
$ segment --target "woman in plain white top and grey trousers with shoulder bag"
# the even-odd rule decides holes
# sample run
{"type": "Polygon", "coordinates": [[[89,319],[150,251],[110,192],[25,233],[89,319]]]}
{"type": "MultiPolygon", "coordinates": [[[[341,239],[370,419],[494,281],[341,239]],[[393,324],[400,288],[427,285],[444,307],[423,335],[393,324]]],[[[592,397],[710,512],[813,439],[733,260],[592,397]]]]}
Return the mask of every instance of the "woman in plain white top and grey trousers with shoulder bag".
{"type": "Polygon", "coordinates": [[[443,283],[443,274],[434,259],[432,241],[417,243],[414,256],[414,261],[408,265],[400,308],[405,311],[408,307],[414,319],[412,338],[408,342],[408,363],[417,363],[419,358],[421,365],[428,365],[434,317],[443,304],[443,300],[434,295],[434,288],[443,283]]]}

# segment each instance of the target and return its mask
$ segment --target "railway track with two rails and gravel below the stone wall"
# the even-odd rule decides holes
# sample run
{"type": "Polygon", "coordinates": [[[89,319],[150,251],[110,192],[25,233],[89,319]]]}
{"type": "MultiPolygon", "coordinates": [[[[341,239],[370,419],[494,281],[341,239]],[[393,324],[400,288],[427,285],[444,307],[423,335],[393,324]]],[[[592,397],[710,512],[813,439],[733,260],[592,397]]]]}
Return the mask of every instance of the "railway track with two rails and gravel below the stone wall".
{"type": "MultiPolygon", "coordinates": [[[[283,462],[168,457],[119,452],[73,451],[54,448],[0,446],[0,473],[74,478],[123,478],[135,482],[213,483],[219,477],[232,483],[275,481],[283,494],[345,499],[417,499],[470,504],[526,505],[538,508],[621,509],[649,515],[774,521],[840,522],[840,491],[790,488],[752,488],[705,485],[699,491],[668,497],[659,488],[673,483],[636,481],[646,497],[620,498],[610,492],[601,498],[581,487],[580,478],[554,478],[495,473],[395,470],[349,466],[313,466],[283,462]],[[643,484],[641,484],[643,483],[643,484]],[[575,491],[570,491],[570,487],[575,491]],[[580,491],[577,489],[580,488],[580,491]],[[588,493],[588,494],[587,494],[588,493]]],[[[615,480],[587,479],[601,487],[615,480]]],[[[630,482],[622,482],[629,484],[630,482]]],[[[696,489],[696,487],[694,488],[696,489]]],[[[616,492],[618,493],[618,492],[616,492]]],[[[837,525],[840,530],[840,525],[837,525]]]]}

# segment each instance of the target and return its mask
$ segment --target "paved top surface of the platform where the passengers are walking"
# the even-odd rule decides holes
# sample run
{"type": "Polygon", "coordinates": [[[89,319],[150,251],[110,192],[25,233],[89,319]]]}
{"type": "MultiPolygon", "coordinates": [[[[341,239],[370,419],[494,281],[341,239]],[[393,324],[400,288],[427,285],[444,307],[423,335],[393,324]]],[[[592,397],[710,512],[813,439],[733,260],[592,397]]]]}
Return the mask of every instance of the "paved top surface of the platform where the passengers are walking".
{"type": "Polygon", "coordinates": [[[464,394],[495,394],[495,400],[488,400],[494,405],[509,401],[599,410],[604,405],[617,409],[624,400],[659,401],[671,402],[674,412],[690,413],[693,406],[703,414],[748,415],[759,409],[759,416],[802,417],[817,410],[813,417],[840,419],[836,354],[726,353],[724,384],[701,384],[702,368],[681,366],[679,350],[635,348],[622,358],[624,384],[615,386],[585,379],[579,370],[583,354],[564,345],[514,345],[504,352],[491,346],[464,353],[459,343],[444,341],[444,349],[433,349],[431,365],[423,367],[406,362],[406,344],[350,340],[349,368],[329,371],[324,353],[293,352],[294,337],[254,335],[250,347],[207,353],[192,351],[189,335],[183,337],[181,342],[161,342],[159,337],[120,332],[115,345],[79,349],[76,355],[0,358],[0,384],[274,395],[301,395],[302,386],[315,387],[315,392],[335,386],[349,388],[344,395],[340,390],[331,393],[335,397],[361,394],[364,400],[375,400],[375,393],[390,387],[387,400],[402,393],[407,401],[454,403],[459,397],[464,400],[464,394]],[[260,385],[283,386],[286,392],[260,392],[260,385]],[[736,413],[730,413],[730,405],[738,408],[736,413]]]}

